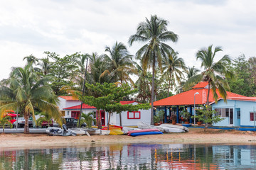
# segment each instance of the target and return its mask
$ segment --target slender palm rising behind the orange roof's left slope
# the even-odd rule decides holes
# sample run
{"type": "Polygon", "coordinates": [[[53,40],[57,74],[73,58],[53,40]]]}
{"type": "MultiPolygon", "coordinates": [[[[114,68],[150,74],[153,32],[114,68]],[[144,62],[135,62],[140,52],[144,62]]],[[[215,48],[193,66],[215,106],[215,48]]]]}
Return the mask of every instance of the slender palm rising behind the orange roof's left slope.
{"type": "Polygon", "coordinates": [[[186,69],[185,63],[182,58],[178,57],[178,52],[172,51],[167,58],[163,60],[163,77],[166,77],[169,80],[168,86],[168,93],[167,96],[169,97],[170,86],[171,90],[175,84],[175,81],[178,83],[181,82],[183,77],[183,73],[180,69],[186,69]]]}

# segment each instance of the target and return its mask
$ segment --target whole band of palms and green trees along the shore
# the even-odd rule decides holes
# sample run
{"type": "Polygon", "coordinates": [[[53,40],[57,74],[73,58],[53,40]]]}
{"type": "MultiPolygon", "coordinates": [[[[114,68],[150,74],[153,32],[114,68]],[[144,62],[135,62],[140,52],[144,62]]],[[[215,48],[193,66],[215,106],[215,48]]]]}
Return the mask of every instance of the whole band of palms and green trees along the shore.
{"type": "MultiPolygon", "coordinates": [[[[35,119],[35,113],[46,113],[47,118],[61,124],[61,114],[56,106],[60,95],[80,96],[84,103],[97,110],[104,108],[109,113],[129,110],[119,101],[147,103],[142,108],[149,107],[150,102],[151,124],[154,123],[154,101],[189,90],[199,81],[208,81],[215,100],[218,93],[225,100],[226,91],[256,95],[255,57],[247,60],[241,55],[231,60],[224,55],[215,61],[222,48],[210,45],[196,53],[201,72],[195,66],[186,65],[186,59],[178,57],[178,52],[169,45],[169,42],[177,42],[178,35],[168,26],[169,22],[158,16],[150,16],[139,23],[136,33],[128,40],[129,45],[144,43],[134,55],[124,42],[116,41],[106,45],[105,54],[75,52],[60,56],[46,51],[40,58],[24,57],[25,66],[13,67],[9,78],[1,80],[0,111],[18,110],[26,118],[24,132],[28,133],[28,118],[35,119]],[[84,80],[87,84],[82,96],[84,80]],[[104,88],[108,89],[104,91],[104,88]]],[[[121,117],[120,120],[122,124],[121,117]]]]}

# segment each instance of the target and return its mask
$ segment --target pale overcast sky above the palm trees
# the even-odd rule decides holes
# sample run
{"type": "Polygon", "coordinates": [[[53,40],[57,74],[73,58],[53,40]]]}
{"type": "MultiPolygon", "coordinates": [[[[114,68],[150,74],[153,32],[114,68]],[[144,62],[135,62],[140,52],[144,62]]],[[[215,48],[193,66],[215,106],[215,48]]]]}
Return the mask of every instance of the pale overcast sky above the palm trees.
{"type": "Polygon", "coordinates": [[[0,80],[11,67],[23,67],[23,57],[60,57],[75,52],[103,54],[114,42],[135,55],[142,43],[128,39],[145,18],[157,15],[169,21],[178,42],[167,42],[186,63],[200,69],[196,52],[221,46],[223,55],[253,57],[256,41],[255,0],[1,0],[0,80]]]}

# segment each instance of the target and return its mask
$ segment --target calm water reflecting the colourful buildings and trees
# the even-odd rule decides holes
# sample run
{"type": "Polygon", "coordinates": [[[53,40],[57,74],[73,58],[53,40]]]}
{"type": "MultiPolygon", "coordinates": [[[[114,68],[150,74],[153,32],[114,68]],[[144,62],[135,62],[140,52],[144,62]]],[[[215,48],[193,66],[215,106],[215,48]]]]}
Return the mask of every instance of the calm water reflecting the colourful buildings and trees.
{"type": "Polygon", "coordinates": [[[3,149],[0,169],[256,169],[256,145],[129,144],[3,149]]]}

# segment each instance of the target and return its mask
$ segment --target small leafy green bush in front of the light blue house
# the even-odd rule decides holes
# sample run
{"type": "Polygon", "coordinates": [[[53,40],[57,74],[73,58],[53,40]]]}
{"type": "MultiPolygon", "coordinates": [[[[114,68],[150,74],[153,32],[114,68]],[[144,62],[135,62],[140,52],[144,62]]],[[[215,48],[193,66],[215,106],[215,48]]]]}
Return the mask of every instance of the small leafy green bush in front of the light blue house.
{"type": "MultiPolygon", "coordinates": [[[[203,106],[201,106],[201,108],[203,108],[203,106]]],[[[218,123],[223,120],[223,118],[220,118],[220,116],[216,114],[216,111],[211,109],[211,106],[206,105],[206,108],[198,109],[197,112],[201,114],[195,115],[195,118],[205,123],[205,131],[206,128],[208,128],[208,124],[212,125],[213,123],[218,123]]]]}

